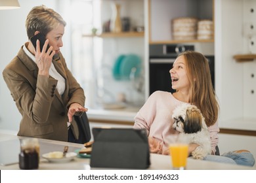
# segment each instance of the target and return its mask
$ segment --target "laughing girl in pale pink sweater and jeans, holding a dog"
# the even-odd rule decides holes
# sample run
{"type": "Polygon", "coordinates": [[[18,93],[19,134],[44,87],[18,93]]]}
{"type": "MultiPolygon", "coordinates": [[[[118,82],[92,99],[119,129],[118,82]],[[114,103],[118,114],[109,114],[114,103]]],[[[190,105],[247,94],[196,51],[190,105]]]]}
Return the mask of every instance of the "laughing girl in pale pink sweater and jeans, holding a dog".
{"type": "MultiPolygon", "coordinates": [[[[211,134],[211,154],[215,155],[219,138],[219,104],[215,98],[207,59],[198,52],[186,51],[178,56],[170,70],[175,93],[152,93],[135,116],[135,129],[146,129],[150,152],[168,154],[168,136],[177,133],[172,125],[173,110],[183,103],[196,105],[202,111],[211,134]]],[[[189,145],[189,154],[198,144],[189,145]]],[[[254,158],[246,150],[229,152],[224,156],[209,155],[205,159],[242,165],[254,165],[254,158]],[[230,158],[227,158],[230,157],[230,158]],[[238,161],[239,159],[239,161],[238,161]],[[234,161],[236,160],[236,161],[234,161]]]]}

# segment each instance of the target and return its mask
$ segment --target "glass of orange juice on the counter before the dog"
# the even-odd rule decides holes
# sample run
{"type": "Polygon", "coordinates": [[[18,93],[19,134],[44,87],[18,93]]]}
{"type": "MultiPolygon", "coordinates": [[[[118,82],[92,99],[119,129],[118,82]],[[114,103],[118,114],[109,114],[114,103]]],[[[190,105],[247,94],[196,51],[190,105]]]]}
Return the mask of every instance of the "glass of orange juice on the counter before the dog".
{"type": "Polygon", "coordinates": [[[169,152],[173,169],[186,169],[186,159],[188,158],[188,142],[183,134],[173,135],[169,143],[169,152]]]}

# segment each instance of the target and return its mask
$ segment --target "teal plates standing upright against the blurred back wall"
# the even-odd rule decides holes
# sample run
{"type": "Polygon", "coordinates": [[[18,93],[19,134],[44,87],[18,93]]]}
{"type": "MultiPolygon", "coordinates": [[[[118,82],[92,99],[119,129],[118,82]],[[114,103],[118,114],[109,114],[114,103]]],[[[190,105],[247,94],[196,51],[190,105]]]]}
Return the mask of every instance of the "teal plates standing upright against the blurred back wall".
{"type": "Polygon", "coordinates": [[[141,59],[135,54],[120,55],[113,67],[113,76],[116,80],[131,80],[140,75],[141,59]]]}

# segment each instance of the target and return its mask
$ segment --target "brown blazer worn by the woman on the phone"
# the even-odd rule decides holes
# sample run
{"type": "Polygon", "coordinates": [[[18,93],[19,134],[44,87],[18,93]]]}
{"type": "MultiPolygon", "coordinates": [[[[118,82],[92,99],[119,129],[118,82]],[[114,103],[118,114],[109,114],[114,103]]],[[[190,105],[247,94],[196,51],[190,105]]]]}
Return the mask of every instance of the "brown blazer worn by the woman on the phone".
{"type": "MultiPolygon", "coordinates": [[[[53,64],[56,71],[66,80],[66,90],[62,96],[56,90],[58,80],[51,76],[38,76],[37,65],[23,48],[3,71],[3,78],[22,115],[18,135],[68,141],[68,107],[72,103],[84,106],[85,95],[68,70],[62,54],[53,59],[53,64]]],[[[7,115],[12,115],[12,112],[7,115]]],[[[72,129],[75,137],[78,137],[74,120],[72,129]]]]}

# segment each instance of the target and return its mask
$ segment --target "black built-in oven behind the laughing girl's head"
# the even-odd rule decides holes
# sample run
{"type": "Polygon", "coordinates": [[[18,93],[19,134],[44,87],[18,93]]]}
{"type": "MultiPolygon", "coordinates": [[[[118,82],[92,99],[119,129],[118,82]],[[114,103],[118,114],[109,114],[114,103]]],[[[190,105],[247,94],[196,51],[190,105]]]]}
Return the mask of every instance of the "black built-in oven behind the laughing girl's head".
{"type": "MultiPolygon", "coordinates": [[[[157,91],[175,92],[171,88],[169,70],[177,56],[185,50],[194,50],[194,45],[182,44],[150,44],[149,52],[149,92],[157,91]]],[[[205,56],[209,61],[211,81],[215,86],[214,56],[205,56]]]]}

